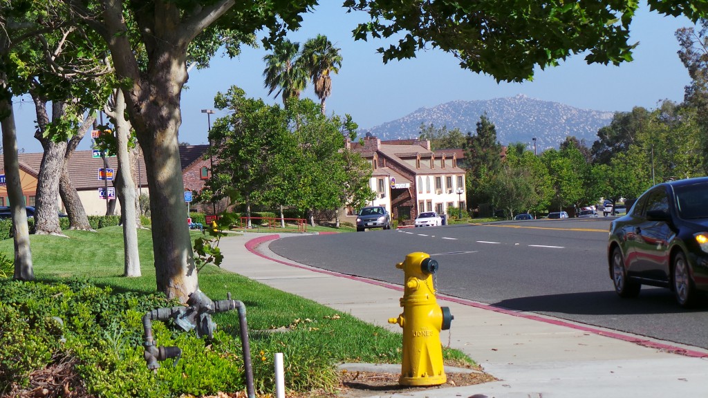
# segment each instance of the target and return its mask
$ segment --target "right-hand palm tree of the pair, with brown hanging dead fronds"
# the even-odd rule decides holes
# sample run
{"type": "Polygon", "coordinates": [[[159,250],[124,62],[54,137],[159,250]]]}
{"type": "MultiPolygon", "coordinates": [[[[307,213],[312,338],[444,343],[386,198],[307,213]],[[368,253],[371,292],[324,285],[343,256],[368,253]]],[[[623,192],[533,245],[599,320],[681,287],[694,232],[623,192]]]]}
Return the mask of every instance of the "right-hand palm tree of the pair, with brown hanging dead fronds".
{"type": "Polygon", "coordinates": [[[302,46],[299,62],[302,62],[303,69],[314,83],[314,93],[319,98],[324,114],[324,101],[332,91],[330,74],[338,73],[342,66],[341,50],[334,47],[326,36],[317,35],[302,46]]]}

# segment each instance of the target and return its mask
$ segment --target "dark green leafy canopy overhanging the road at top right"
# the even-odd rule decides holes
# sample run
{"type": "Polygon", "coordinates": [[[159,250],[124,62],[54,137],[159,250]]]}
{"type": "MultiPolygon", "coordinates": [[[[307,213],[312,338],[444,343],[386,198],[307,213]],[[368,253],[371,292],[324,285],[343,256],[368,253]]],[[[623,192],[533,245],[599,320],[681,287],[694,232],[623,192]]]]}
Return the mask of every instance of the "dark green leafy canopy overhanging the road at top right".
{"type": "MultiPolygon", "coordinates": [[[[629,24],[639,1],[370,1],[346,0],[367,11],[356,39],[400,37],[381,47],[384,62],[412,58],[429,47],[451,52],[472,72],[498,81],[532,79],[534,69],[587,52],[588,63],[632,60],[629,24]]],[[[692,21],[708,10],[705,1],[649,0],[652,10],[692,21]]]]}

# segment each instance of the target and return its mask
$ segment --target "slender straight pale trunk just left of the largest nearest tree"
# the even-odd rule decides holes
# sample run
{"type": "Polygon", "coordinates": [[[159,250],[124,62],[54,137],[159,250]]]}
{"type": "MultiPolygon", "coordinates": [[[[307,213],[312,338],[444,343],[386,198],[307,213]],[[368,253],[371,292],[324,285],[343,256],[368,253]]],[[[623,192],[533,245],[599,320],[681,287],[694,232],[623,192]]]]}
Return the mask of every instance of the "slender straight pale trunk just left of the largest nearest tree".
{"type": "Polygon", "coordinates": [[[140,276],[140,258],[137,250],[137,211],[135,210],[135,182],[130,169],[128,154],[128,139],[130,123],[125,115],[125,98],[120,90],[115,92],[115,108],[110,115],[115,120],[116,147],[118,147],[118,174],[116,175],[116,191],[120,200],[120,218],[123,224],[123,276],[140,276]]]}

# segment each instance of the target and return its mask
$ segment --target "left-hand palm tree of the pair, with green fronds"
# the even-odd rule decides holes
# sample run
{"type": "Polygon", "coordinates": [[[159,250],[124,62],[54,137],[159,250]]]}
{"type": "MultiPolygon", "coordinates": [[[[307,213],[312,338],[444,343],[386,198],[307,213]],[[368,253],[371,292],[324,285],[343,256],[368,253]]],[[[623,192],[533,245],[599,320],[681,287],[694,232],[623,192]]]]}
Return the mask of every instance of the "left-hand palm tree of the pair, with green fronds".
{"type": "Polygon", "coordinates": [[[273,47],[273,54],[263,57],[263,85],[268,89],[268,95],[275,91],[275,96],[282,93],[282,103],[287,98],[300,97],[300,91],[307,86],[307,73],[298,62],[300,44],[290,40],[282,40],[273,47]]]}

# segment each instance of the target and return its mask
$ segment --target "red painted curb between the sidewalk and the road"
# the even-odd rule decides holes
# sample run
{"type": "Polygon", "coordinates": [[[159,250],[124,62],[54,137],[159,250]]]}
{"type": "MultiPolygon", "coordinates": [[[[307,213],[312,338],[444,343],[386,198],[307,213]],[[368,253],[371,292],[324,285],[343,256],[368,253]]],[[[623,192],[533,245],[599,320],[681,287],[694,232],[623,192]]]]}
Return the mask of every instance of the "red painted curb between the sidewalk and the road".
{"type": "MultiPolygon", "coordinates": [[[[262,253],[256,251],[256,247],[258,247],[258,245],[260,245],[266,241],[271,241],[271,240],[275,240],[275,239],[280,239],[280,235],[279,234],[265,235],[263,237],[251,239],[250,241],[246,242],[246,249],[248,249],[248,251],[250,251],[251,253],[256,254],[256,256],[261,256],[263,258],[267,258],[270,261],[275,261],[276,263],[285,264],[286,266],[306,269],[308,271],[314,271],[317,273],[324,273],[326,275],[338,276],[338,277],[347,278],[350,280],[357,280],[358,282],[364,282],[364,283],[369,283],[370,285],[382,286],[383,288],[389,288],[389,289],[396,290],[399,292],[403,291],[403,287],[399,286],[399,285],[392,285],[391,283],[382,282],[380,280],[361,278],[359,276],[346,275],[344,273],[338,273],[338,272],[334,272],[334,271],[327,271],[327,270],[323,270],[323,269],[319,269],[319,268],[302,266],[302,265],[294,264],[294,263],[288,263],[287,261],[280,261],[276,258],[270,258],[268,256],[265,256],[265,254],[262,254],[262,253]]],[[[591,326],[583,326],[583,325],[579,325],[579,324],[573,324],[571,322],[566,322],[561,319],[549,319],[549,318],[542,317],[542,316],[535,315],[535,314],[518,312],[514,309],[496,307],[496,306],[489,305],[489,304],[474,302],[472,300],[465,300],[465,299],[462,299],[459,297],[438,295],[438,298],[440,300],[445,300],[445,301],[449,301],[449,302],[456,302],[457,304],[467,305],[469,307],[475,307],[475,308],[479,308],[479,309],[486,309],[487,311],[493,311],[493,312],[498,312],[501,314],[512,315],[514,317],[521,317],[524,319],[530,319],[532,321],[545,322],[547,324],[552,324],[552,325],[557,325],[557,326],[565,326],[565,327],[568,327],[571,329],[576,329],[579,331],[586,331],[588,333],[597,334],[598,336],[605,336],[605,337],[610,337],[612,339],[627,341],[629,343],[639,344],[639,346],[655,348],[660,351],[675,353],[675,354],[682,355],[682,356],[689,356],[689,357],[693,357],[693,358],[708,358],[708,353],[703,353],[701,351],[688,350],[686,348],[681,348],[678,346],[671,346],[670,344],[658,343],[656,341],[651,341],[649,339],[642,339],[641,337],[627,336],[627,335],[617,333],[614,331],[606,331],[606,330],[602,330],[602,329],[596,329],[591,326]]]]}

